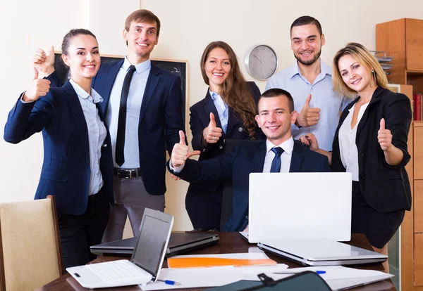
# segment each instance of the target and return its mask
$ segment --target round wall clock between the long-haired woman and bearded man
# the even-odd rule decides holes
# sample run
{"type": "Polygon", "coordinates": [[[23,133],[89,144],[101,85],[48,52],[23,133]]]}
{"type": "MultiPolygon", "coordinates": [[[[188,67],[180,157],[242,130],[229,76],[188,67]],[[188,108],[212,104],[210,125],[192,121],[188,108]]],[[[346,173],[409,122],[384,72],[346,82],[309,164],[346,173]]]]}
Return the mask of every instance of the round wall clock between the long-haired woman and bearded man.
{"type": "Polygon", "coordinates": [[[245,67],[251,77],[266,80],[276,72],[278,57],[270,46],[255,46],[245,56],[245,67]]]}

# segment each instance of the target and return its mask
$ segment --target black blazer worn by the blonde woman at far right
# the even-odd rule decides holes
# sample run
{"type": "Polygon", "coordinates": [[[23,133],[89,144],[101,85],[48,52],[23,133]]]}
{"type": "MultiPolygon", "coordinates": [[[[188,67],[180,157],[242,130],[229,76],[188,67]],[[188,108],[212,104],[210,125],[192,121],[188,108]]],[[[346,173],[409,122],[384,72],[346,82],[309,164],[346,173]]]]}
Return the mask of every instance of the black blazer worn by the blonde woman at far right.
{"type": "MultiPolygon", "coordinates": [[[[360,97],[342,112],[333,139],[332,171],[345,172],[339,150],[339,128],[360,97]]],[[[407,136],[411,123],[410,99],[401,93],[376,88],[360,123],[357,125],[355,143],[358,150],[359,181],[362,196],[367,204],[379,212],[411,209],[411,188],[405,165],[410,160],[407,136]],[[377,141],[381,119],[392,134],[392,144],[403,151],[403,161],[398,166],[386,163],[384,151],[377,141]]]]}

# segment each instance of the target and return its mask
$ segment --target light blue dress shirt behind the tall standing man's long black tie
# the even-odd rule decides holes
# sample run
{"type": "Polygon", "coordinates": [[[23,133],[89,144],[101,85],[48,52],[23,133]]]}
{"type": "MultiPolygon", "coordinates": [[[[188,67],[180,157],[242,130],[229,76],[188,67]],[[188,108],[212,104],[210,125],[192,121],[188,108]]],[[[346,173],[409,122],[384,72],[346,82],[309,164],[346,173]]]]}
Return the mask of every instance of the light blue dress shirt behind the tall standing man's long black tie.
{"type": "MultiPolygon", "coordinates": [[[[109,124],[111,137],[111,150],[114,167],[119,167],[119,165],[116,164],[115,159],[119,107],[121,104],[123,79],[125,79],[125,75],[128,72],[130,65],[131,63],[129,63],[128,58],[125,58],[123,65],[116,76],[113,88],[111,89],[109,107],[107,108],[106,114],[106,120],[107,124],[109,124]]],[[[136,71],[130,81],[128,100],[126,103],[125,148],[123,149],[125,162],[121,166],[123,169],[135,169],[140,167],[138,124],[140,123],[142,98],[144,98],[145,86],[147,84],[151,67],[151,60],[146,60],[145,62],[135,65],[136,71]]]]}

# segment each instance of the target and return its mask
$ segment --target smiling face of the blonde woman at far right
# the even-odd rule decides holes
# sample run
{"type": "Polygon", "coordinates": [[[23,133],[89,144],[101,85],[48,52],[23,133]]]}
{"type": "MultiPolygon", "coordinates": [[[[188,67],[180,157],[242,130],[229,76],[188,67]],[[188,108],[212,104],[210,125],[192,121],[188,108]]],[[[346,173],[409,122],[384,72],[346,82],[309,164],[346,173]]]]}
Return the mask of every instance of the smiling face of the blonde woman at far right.
{"type": "Polygon", "coordinates": [[[374,87],[372,73],[364,65],[360,64],[349,53],[342,56],[338,61],[338,69],[341,72],[343,82],[360,95],[374,87]]]}

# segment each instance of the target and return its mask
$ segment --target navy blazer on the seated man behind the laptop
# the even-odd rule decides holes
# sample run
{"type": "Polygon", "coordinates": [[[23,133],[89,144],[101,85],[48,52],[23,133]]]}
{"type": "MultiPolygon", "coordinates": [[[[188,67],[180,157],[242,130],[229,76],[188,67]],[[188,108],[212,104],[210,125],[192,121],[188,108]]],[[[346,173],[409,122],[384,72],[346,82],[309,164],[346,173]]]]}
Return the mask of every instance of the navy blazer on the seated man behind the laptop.
{"type": "MultiPolygon", "coordinates": [[[[197,162],[188,159],[177,174],[188,182],[232,180],[233,210],[224,231],[243,231],[247,226],[248,181],[250,173],[262,173],[266,141],[257,143],[241,141],[233,152],[214,159],[197,162]]],[[[289,172],[331,172],[328,158],[294,141],[289,172]]]]}

